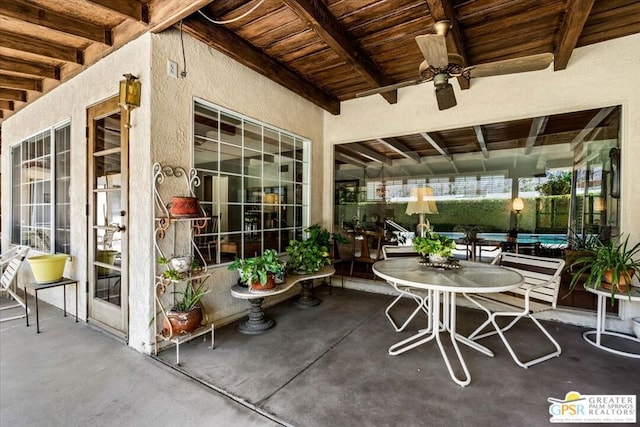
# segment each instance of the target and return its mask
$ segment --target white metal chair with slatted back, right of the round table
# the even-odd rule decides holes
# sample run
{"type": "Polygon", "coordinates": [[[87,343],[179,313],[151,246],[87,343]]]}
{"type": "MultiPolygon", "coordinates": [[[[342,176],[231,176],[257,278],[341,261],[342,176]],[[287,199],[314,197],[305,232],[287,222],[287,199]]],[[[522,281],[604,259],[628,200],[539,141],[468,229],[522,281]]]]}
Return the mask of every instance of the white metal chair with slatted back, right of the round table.
{"type": "Polygon", "coordinates": [[[508,294],[464,295],[469,301],[487,313],[487,320],[469,335],[469,339],[478,340],[498,334],[513,360],[523,368],[528,368],[536,363],[559,356],[562,351],[560,345],[542,324],[533,317],[533,314],[556,308],[560,287],[560,273],[564,267],[564,260],[504,252],[498,255],[492,264],[517,271],[524,277],[524,282],[519,288],[508,294]],[[514,319],[506,326],[500,327],[496,322],[497,317],[513,317],[514,319]],[[516,356],[504,332],[511,329],[523,317],[528,317],[533,321],[551,341],[555,350],[526,362],[516,356]],[[489,325],[492,325],[494,330],[481,334],[489,325]]]}

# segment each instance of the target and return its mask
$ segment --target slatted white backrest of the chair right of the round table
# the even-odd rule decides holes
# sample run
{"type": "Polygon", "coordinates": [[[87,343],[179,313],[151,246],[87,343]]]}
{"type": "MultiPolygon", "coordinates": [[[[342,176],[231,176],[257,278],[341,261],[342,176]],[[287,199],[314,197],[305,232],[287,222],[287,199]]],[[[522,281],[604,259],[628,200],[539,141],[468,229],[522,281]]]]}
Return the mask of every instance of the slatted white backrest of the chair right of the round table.
{"type": "Polygon", "coordinates": [[[524,296],[527,290],[542,284],[531,291],[529,298],[550,303],[556,308],[564,260],[503,252],[492,264],[515,270],[524,277],[524,283],[513,293],[524,296]]]}

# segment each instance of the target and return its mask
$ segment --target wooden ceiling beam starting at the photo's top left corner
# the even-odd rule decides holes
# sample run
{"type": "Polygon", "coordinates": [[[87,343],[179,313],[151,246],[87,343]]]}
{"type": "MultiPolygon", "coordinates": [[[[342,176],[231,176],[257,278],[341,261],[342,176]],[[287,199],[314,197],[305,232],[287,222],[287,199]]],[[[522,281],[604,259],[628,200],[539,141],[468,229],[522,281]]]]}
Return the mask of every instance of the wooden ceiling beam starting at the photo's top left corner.
{"type": "Polygon", "coordinates": [[[62,15],[23,0],[0,2],[0,15],[109,46],[113,44],[113,36],[109,28],[82,21],[69,15],[62,15]]]}

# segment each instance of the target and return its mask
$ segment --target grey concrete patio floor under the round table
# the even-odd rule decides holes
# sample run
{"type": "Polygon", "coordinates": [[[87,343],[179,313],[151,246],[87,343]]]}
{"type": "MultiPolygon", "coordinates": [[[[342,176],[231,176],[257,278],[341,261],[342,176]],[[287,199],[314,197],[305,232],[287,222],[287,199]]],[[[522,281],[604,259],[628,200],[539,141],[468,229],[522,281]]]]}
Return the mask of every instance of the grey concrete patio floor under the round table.
{"type": "MultiPolygon", "coordinates": [[[[482,341],[493,358],[461,346],[472,376],[463,388],[433,342],[388,355],[424,317],[396,333],[384,316],[389,296],[326,287],[316,295],[314,308],[269,307],[276,326],[263,334],[231,324],[216,329],[213,350],[208,340],[183,344],[181,366],[173,348],[157,359],[139,354],[42,304],[40,334],[24,319],[0,326],[0,425],[543,426],[549,397],[639,390],[640,359],[597,349],[583,328],[555,322],[545,325],[562,354],[529,369],[497,337],[482,341]]],[[[461,308],[458,330],[480,319],[461,308]]],[[[523,354],[550,345],[527,321],[511,336],[523,354]]]]}

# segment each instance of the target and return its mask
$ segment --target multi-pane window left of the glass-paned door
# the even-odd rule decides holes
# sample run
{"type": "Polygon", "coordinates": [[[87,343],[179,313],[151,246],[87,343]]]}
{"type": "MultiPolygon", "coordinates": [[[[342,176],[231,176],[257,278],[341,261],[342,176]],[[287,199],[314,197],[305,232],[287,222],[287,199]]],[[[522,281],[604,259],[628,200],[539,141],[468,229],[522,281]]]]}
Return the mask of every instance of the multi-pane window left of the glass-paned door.
{"type": "Polygon", "coordinates": [[[68,123],[13,147],[12,243],[70,253],[70,147],[68,123]]]}

